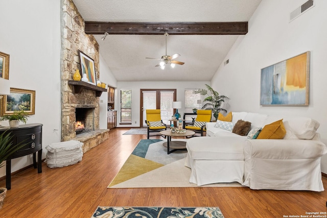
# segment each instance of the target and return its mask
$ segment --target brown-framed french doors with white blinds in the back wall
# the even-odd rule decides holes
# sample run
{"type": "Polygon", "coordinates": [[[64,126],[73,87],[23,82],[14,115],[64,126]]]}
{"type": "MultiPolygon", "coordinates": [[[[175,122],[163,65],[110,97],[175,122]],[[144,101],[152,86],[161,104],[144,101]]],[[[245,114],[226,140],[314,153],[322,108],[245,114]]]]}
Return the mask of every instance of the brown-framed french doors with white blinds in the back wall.
{"type": "Polygon", "coordinates": [[[169,125],[169,119],[174,115],[172,107],[176,101],[176,89],[141,89],[141,127],[146,127],[146,110],[160,109],[162,122],[169,125]]]}

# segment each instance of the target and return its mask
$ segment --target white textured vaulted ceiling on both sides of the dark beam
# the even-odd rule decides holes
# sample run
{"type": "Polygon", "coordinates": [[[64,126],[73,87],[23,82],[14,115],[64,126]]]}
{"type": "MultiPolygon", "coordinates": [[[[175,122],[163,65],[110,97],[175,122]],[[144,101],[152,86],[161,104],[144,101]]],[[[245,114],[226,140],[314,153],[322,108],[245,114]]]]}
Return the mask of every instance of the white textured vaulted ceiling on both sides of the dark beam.
{"type": "MultiPolygon", "coordinates": [[[[73,0],[85,21],[95,22],[244,22],[261,0],[131,1],[73,0]]],[[[117,81],[209,81],[239,35],[168,36],[167,55],[185,62],[164,70],[155,67],[165,55],[165,36],[94,35],[100,54],[117,81]]],[[[101,68],[100,68],[101,73],[101,68]]]]}

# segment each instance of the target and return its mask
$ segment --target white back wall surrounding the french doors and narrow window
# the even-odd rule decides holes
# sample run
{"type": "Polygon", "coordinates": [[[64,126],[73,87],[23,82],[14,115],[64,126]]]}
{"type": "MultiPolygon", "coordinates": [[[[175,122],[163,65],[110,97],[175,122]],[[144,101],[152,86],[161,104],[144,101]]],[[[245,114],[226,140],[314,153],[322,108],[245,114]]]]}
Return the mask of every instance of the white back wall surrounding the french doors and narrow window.
{"type": "MultiPolygon", "coordinates": [[[[182,108],[178,112],[182,115],[184,113],[184,90],[185,89],[199,89],[204,88],[205,84],[210,85],[209,81],[201,82],[180,82],[180,81],[161,81],[161,82],[117,82],[118,88],[115,90],[115,109],[120,110],[120,91],[121,89],[132,90],[132,125],[119,125],[120,113],[117,113],[118,127],[140,127],[140,90],[141,89],[176,89],[176,100],[182,102],[182,108]],[[136,122],[136,123],[135,123],[136,122]]],[[[218,91],[218,90],[217,90],[218,91]]]]}

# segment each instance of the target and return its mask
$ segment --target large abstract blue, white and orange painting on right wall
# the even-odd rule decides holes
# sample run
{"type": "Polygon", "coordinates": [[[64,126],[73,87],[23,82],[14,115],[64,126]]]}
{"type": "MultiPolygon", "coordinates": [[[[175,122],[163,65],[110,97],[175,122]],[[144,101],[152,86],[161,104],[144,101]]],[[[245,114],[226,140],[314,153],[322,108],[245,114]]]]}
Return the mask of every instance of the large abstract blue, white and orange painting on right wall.
{"type": "Polygon", "coordinates": [[[261,69],[260,105],[309,105],[310,52],[261,69]]]}

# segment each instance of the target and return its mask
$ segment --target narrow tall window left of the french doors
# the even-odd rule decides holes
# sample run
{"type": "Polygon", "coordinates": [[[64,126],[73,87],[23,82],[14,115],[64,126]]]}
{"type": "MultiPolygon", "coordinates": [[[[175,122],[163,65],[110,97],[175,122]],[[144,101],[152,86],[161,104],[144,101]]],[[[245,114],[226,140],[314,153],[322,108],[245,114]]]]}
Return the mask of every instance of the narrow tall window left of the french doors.
{"type": "Polygon", "coordinates": [[[121,123],[132,123],[132,90],[121,90],[121,123]]]}

